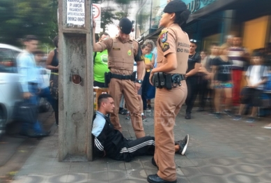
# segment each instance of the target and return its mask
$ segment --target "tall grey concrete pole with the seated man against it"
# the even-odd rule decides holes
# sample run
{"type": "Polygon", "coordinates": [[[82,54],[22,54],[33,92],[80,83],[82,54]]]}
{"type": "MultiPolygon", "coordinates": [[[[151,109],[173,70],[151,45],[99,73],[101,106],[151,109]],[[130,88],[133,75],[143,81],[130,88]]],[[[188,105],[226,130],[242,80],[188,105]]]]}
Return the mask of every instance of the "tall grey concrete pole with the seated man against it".
{"type": "Polygon", "coordinates": [[[91,22],[91,0],[77,2],[59,0],[59,161],[93,159],[91,22]],[[80,7],[78,2],[84,6],[80,7]],[[85,15],[77,13],[68,15],[67,12],[70,13],[72,10],[78,13],[84,11],[85,15]],[[68,20],[71,20],[67,20],[69,16],[72,18],[77,16],[77,20],[72,20],[84,24],[68,24],[68,20]]]}

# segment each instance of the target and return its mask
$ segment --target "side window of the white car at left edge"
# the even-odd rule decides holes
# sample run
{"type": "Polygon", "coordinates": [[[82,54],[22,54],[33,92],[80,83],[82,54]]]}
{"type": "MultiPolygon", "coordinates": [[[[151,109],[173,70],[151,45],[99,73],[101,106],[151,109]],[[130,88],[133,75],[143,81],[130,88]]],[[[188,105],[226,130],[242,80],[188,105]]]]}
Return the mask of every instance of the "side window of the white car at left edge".
{"type": "Polygon", "coordinates": [[[15,73],[16,64],[13,52],[6,48],[0,48],[0,73],[15,73]]]}

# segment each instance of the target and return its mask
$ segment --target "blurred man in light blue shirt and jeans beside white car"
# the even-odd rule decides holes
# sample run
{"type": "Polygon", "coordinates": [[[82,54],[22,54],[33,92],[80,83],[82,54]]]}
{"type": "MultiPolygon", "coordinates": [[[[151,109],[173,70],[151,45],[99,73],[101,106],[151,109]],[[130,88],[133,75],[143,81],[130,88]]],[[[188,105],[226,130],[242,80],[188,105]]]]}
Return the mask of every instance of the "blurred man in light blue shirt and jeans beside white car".
{"type": "MultiPolygon", "coordinates": [[[[38,38],[33,35],[28,35],[24,39],[25,50],[17,56],[17,71],[20,74],[21,91],[25,103],[36,105],[38,109],[38,82],[40,73],[36,67],[36,61],[33,53],[38,47],[38,38]]],[[[33,115],[37,116],[38,110],[35,110],[33,115]]],[[[29,115],[29,114],[26,114],[29,115]]],[[[33,119],[36,120],[36,119],[33,119]]],[[[29,137],[45,137],[49,135],[49,131],[44,131],[42,125],[36,122],[24,122],[20,134],[29,137]]]]}

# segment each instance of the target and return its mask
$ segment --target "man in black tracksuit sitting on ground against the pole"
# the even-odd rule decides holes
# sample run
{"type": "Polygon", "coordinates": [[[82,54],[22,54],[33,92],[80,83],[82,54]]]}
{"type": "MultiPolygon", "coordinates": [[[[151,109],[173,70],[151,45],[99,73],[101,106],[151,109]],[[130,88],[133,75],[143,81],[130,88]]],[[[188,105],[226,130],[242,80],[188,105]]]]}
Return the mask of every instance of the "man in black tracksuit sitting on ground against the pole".
{"type": "MultiPolygon", "coordinates": [[[[94,140],[94,152],[96,155],[120,161],[131,161],[134,156],[154,155],[155,138],[145,136],[137,140],[128,140],[123,134],[114,129],[110,122],[109,113],[115,108],[114,100],[109,94],[101,94],[98,98],[98,111],[93,117],[92,134],[94,140]]],[[[175,151],[185,154],[189,136],[175,142],[175,151]]],[[[152,161],[155,165],[155,161],[152,161]]]]}

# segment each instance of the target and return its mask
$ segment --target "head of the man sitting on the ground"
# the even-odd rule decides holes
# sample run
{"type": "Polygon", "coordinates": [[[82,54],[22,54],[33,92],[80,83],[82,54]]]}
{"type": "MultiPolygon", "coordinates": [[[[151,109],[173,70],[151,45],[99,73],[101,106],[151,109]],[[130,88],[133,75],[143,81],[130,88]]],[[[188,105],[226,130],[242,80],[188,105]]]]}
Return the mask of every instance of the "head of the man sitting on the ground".
{"type": "Polygon", "coordinates": [[[98,110],[103,114],[109,114],[114,111],[114,100],[109,94],[100,94],[98,97],[98,110]]]}

